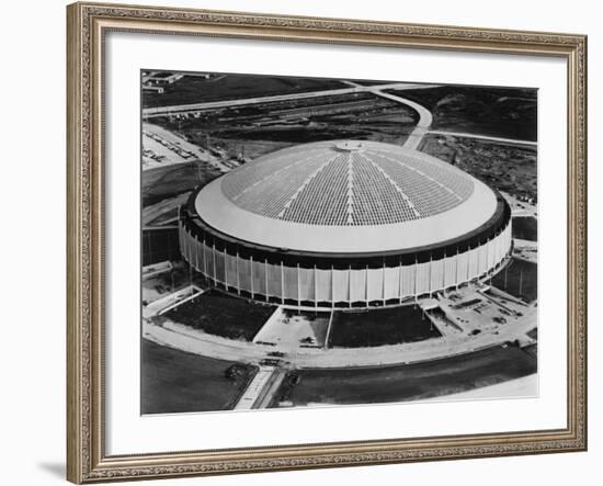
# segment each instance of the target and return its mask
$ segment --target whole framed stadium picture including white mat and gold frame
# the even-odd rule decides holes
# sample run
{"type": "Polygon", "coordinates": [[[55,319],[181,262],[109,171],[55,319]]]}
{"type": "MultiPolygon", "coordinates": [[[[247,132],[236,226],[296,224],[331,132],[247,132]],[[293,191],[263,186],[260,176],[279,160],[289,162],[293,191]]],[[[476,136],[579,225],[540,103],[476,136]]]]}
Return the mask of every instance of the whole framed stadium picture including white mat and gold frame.
{"type": "Polygon", "coordinates": [[[587,449],[587,38],[68,7],[68,479],[587,449]]]}

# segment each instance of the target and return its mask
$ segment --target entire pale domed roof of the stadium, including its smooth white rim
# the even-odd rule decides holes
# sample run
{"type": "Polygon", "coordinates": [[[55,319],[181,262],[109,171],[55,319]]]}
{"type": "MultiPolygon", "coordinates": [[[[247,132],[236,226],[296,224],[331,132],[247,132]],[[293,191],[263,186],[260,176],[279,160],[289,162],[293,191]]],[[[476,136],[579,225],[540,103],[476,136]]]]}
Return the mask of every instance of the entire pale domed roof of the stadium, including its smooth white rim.
{"type": "Polygon", "coordinates": [[[309,252],[403,250],[463,236],[497,199],[482,182],[425,154],[364,140],[277,150],[205,187],[195,207],[215,229],[309,252]]]}

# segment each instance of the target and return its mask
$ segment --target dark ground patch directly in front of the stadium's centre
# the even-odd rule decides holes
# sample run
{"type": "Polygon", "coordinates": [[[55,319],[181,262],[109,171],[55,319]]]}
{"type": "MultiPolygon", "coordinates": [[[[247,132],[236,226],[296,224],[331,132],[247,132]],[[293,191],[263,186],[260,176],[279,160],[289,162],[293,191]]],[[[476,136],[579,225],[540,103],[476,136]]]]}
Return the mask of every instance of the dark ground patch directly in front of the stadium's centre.
{"type": "Polygon", "coordinates": [[[335,310],[329,336],[331,348],[362,348],[398,344],[437,338],[442,335],[419,307],[335,310]]]}

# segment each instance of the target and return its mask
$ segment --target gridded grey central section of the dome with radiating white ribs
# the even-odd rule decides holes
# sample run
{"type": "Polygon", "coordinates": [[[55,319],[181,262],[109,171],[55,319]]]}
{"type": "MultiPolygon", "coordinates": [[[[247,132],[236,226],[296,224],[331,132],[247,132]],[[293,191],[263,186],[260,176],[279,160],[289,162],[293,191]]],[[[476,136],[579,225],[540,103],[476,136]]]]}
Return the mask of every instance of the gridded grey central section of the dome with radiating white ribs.
{"type": "Polygon", "coordinates": [[[390,144],[320,142],[277,150],[224,176],[243,211],[318,226],[375,226],[435,216],[466,202],[474,179],[390,144]]]}

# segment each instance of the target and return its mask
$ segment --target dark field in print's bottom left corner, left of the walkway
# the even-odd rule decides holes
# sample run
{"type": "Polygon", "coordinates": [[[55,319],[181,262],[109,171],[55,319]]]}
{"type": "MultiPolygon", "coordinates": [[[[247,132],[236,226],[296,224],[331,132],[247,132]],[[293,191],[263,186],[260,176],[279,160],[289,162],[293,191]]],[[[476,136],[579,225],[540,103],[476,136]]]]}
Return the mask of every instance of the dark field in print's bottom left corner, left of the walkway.
{"type": "Polygon", "coordinates": [[[158,346],[143,339],[140,411],[170,414],[231,409],[252,377],[252,369],[234,378],[236,363],[158,346]]]}

